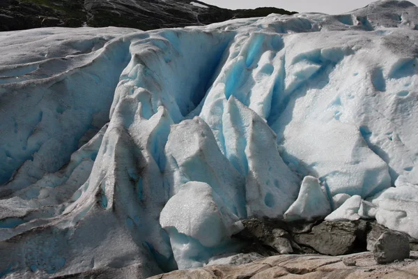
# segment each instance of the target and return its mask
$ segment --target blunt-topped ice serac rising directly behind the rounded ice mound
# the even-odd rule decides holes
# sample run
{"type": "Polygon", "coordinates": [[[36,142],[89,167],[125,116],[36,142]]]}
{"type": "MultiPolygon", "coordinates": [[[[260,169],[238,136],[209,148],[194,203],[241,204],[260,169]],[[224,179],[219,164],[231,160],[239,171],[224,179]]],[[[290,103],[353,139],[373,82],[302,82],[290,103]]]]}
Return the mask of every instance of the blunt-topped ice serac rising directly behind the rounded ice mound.
{"type": "Polygon", "coordinates": [[[165,146],[165,181],[176,195],[190,181],[207,183],[226,208],[245,218],[245,179],[233,168],[216,144],[209,126],[198,116],[171,126],[165,146]]]}

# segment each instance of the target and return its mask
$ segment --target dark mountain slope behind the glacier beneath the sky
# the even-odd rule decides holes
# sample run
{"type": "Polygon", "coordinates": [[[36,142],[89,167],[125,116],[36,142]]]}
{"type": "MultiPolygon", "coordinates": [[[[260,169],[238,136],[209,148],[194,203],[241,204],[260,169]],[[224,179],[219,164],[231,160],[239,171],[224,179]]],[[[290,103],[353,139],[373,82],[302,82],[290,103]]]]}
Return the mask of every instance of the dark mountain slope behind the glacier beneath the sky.
{"type": "Polygon", "coordinates": [[[232,18],[291,15],[279,8],[229,10],[190,0],[3,0],[0,31],[38,27],[131,27],[141,30],[186,27],[232,18]],[[207,7],[207,8],[203,8],[207,7]]]}

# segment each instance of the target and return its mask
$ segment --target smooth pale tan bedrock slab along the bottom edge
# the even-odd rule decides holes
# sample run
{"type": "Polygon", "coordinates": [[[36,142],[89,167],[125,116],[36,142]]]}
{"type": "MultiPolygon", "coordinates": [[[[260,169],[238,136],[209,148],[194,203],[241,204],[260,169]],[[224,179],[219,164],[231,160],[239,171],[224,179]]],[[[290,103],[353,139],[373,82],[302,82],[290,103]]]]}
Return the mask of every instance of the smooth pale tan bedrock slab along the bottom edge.
{"type": "Polygon", "coordinates": [[[323,255],[279,255],[258,259],[251,264],[241,266],[218,265],[205,266],[202,269],[173,271],[154,276],[151,279],[213,279],[213,278],[384,278],[405,279],[417,278],[418,254],[412,255],[405,262],[397,262],[385,266],[376,265],[373,253],[365,252],[344,257],[323,255]],[[355,265],[347,266],[345,259],[355,261],[355,265]]]}

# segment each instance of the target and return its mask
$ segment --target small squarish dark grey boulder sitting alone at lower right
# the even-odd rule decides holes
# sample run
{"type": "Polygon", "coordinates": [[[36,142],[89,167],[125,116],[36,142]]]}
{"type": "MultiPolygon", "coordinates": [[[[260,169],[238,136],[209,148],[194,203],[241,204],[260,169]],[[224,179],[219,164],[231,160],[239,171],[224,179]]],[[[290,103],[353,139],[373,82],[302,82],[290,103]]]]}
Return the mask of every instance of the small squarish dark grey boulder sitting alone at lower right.
{"type": "Polygon", "coordinates": [[[385,232],[376,241],[373,250],[378,264],[387,264],[410,257],[408,236],[399,232],[385,232]]]}

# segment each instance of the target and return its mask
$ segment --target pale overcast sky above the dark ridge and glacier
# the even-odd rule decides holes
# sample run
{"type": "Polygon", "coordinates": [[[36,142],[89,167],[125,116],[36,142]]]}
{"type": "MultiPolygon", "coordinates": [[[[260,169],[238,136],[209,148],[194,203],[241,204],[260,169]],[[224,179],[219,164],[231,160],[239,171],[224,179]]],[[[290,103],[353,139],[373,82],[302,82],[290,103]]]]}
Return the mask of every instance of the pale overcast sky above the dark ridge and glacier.
{"type": "MultiPolygon", "coordinates": [[[[329,14],[346,13],[362,8],[374,1],[368,0],[201,0],[222,8],[277,7],[297,12],[320,12],[329,14]]],[[[418,6],[418,0],[412,0],[418,6]]]]}

